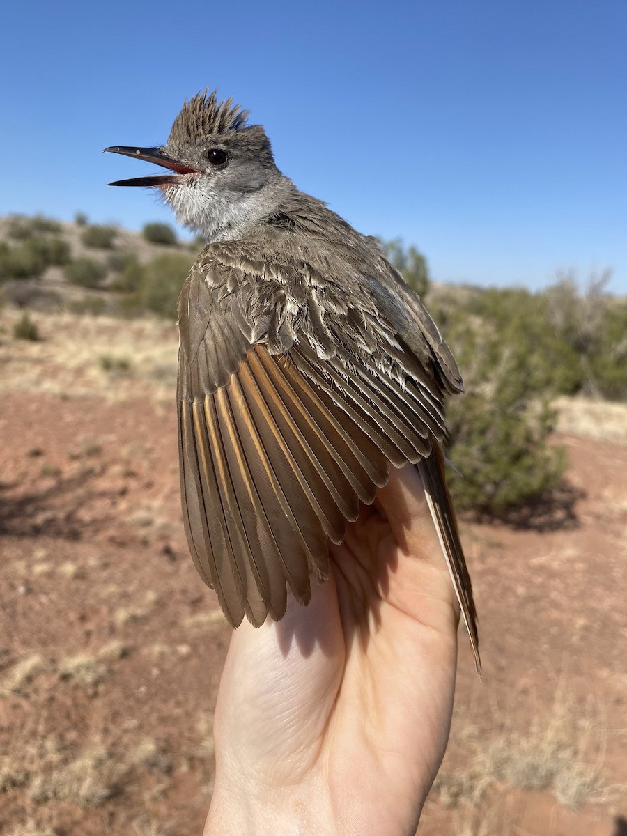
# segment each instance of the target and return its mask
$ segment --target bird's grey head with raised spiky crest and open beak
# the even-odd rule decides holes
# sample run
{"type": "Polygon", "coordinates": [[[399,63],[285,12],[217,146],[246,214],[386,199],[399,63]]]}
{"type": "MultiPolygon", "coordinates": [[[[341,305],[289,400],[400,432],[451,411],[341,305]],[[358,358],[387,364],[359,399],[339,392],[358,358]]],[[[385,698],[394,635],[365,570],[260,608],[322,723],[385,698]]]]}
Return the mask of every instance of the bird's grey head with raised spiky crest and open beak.
{"type": "Polygon", "coordinates": [[[110,186],[155,186],[177,220],[207,240],[231,237],[273,211],[282,183],[261,125],[246,124],[247,111],[216,92],[196,94],[183,104],[165,145],[105,148],[154,162],[168,174],[118,180],[110,186]]]}

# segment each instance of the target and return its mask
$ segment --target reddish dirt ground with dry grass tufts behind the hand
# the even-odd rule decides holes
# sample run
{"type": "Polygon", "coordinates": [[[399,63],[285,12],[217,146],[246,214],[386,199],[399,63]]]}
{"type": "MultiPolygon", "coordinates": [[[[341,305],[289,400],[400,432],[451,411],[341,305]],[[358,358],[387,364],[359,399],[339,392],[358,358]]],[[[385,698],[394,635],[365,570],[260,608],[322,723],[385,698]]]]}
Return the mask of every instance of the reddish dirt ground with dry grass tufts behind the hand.
{"type": "MultiPolygon", "coordinates": [[[[0,832],[199,834],[230,630],[181,526],[176,332],[0,312],[0,832]]],[[[627,409],[563,401],[568,487],[533,528],[463,523],[460,642],[419,833],[627,833],[627,409]],[[623,817],[623,818],[621,818],[623,817]]]]}

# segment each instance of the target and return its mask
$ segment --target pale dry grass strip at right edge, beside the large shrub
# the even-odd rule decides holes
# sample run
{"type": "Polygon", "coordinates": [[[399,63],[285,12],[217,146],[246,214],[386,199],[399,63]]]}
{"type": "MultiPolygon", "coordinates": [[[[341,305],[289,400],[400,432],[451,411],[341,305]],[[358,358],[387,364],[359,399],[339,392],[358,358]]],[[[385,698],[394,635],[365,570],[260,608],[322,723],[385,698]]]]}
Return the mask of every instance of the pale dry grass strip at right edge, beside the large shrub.
{"type": "Polygon", "coordinates": [[[558,431],[594,441],[627,445],[627,404],[560,397],[555,405],[558,409],[558,431]]]}

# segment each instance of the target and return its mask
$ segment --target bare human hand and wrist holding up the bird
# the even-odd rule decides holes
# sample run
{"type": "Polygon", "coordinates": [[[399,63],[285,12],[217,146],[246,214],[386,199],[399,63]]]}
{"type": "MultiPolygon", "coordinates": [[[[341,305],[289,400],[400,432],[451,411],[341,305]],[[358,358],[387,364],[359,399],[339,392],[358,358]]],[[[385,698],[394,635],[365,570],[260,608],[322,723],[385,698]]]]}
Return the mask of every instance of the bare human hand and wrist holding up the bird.
{"type": "Polygon", "coordinates": [[[408,836],[446,749],[459,609],[414,466],[395,471],[329,580],[232,635],[204,836],[408,836]]]}

